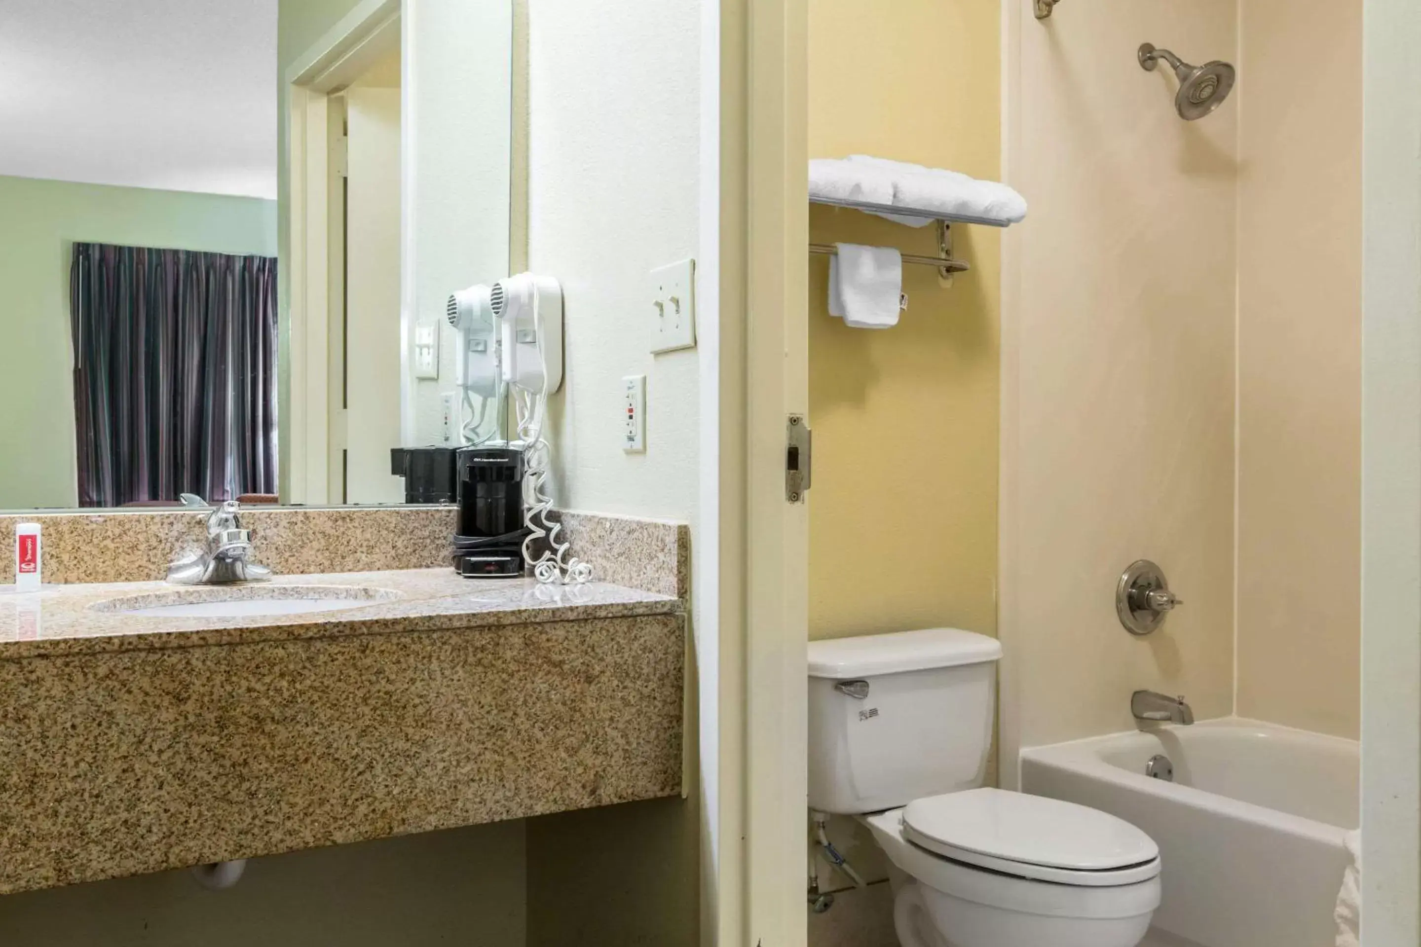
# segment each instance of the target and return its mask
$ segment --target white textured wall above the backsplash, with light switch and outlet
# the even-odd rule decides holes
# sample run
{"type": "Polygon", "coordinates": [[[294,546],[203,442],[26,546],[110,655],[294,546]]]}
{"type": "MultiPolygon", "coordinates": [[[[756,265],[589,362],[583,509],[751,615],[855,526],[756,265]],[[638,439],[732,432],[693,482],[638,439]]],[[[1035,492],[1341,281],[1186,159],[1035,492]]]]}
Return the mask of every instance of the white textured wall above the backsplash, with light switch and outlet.
{"type": "Polygon", "coordinates": [[[696,253],[699,7],[529,3],[529,268],[563,281],[551,405],[558,505],[691,517],[695,351],[649,352],[649,271],[696,253]],[[647,453],[621,449],[621,379],[647,375],[647,453]]]}

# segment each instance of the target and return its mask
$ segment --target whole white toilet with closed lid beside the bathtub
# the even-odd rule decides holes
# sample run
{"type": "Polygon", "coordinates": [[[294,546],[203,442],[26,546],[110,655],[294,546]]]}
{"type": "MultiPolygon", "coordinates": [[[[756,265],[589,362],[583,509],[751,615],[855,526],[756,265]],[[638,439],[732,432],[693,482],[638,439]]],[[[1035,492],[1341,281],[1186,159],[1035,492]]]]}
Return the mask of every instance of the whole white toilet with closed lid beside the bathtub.
{"type": "Polygon", "coordinates": [[[897,866],[904,947],[1135,947],[1160,849],[1097,809],[982,788],[999,642],[926,629],[809,646],[809,805],[897,866]]]}

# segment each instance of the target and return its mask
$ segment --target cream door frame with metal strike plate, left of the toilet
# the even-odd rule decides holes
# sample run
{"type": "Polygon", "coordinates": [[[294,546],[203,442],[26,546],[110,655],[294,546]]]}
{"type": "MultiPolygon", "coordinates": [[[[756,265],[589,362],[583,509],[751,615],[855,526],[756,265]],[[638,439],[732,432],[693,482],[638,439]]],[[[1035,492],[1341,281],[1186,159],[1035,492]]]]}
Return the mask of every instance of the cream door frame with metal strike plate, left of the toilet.
{"type": "Polygon", "coordinates": [[[702,291],[719,312],[702,362],[715,389],[702,419],[703,483],[715,487],[702,520],[715,534],[702,541],[715,542],[716,588],[701,586],[718,602],[719,635],[713,684],[702,674],[719,703],[713,937],[801,947],[809,510],[786,500],[784,463],[789,416],[809,416],[807,3],[708,7],[703,41],[719,67],[702,89],[718,121],[702,126],[715,139],[703,186],[718,190],[702,202],[716,284],[702,291]]]}

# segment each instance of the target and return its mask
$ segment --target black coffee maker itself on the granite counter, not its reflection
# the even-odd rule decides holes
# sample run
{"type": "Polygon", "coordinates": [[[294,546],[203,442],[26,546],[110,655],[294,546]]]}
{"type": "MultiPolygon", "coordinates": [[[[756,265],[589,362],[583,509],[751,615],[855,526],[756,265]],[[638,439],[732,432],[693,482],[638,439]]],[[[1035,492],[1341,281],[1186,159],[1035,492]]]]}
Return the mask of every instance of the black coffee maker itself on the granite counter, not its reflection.
{"type": "Polygon", "coordinates": [[[523,575],[523,451],[463,447],[456,454],[459,531],[453,569],[465,578],[523,575]]]}

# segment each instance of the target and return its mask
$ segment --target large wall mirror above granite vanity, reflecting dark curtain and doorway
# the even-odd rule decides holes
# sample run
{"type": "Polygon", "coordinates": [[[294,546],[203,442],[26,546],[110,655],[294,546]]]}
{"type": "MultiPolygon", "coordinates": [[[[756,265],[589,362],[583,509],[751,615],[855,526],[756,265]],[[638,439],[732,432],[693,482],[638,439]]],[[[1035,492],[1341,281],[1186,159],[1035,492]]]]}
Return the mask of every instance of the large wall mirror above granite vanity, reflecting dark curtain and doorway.
{"type": "Polygon", "coordinates": [[[0,510],[404,503],[499,433],[510,0],[0,0],[0,510]]]}

